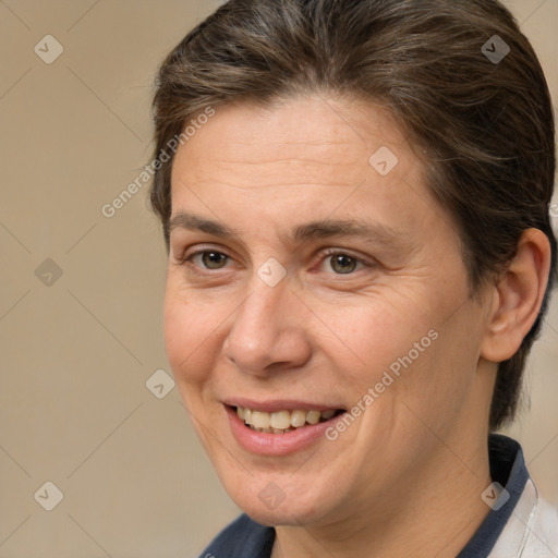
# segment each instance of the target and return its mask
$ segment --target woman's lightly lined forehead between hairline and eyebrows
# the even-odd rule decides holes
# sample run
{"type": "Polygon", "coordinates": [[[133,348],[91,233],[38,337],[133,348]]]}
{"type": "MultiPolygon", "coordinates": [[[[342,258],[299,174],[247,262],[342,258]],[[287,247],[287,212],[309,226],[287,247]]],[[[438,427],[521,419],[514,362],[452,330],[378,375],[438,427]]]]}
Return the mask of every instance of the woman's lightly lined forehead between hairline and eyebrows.
{"type": "Polygon", "coordinates": [[[387,227],[385,216],[397,213],[399,225],[412,225],[424,220],[423,174],[404,134],[369,101],[312,96],[268,108],[229,105],[177,151],[172,215],[195,206],[242,228],[335,214],[387,227]]]}

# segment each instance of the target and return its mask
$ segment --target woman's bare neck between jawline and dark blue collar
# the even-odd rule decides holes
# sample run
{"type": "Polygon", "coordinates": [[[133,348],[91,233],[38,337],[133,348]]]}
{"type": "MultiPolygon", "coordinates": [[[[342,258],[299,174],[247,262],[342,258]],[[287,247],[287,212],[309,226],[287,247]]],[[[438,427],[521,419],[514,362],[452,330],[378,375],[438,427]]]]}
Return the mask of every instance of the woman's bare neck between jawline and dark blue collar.
{"type": "Polygon", "coordinates": [[[481,494],[490,482],[486,440],[469,452],[440,442],[427,471],[385,500],[354,506],[347,520],[277,526],[271,558],[454,558],[488,514],[481,494]]]}

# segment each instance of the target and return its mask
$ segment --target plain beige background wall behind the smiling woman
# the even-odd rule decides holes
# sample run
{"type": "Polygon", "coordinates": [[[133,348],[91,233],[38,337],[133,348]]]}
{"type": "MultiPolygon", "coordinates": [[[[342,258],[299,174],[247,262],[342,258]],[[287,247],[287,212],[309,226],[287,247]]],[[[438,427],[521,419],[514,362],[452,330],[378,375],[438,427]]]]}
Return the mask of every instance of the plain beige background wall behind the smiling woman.
{"type": "MultiPolygon", "coordinates": [[[[558,0],[509,4],[558,98],[558,0]]],[[[217,5],[0,1],[0,558],[191,557],[239,512],[177,389],[146,387],[170,372],[147,187],[100,210],[149,161],[157,64],[217,5]],[[51,64],[34,51],[47,34],[51,64]],[[63,493],[52,511],[46,482],[63,493]]],[[[558,505],[557,360],[555,302],[511,432],[558,505]]]]}

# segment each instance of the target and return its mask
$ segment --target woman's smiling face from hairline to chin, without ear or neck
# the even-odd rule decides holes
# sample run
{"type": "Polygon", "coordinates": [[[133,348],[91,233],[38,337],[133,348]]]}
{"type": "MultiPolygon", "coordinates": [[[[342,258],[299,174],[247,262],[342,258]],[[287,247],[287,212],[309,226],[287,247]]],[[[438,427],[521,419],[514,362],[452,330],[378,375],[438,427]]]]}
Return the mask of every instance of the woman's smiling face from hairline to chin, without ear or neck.
{"type": "Polygon", "coordinates": [[[313,96],[219,108],[177,153],[167,354],[260,523],[386,513],[485,442],[486,311],[424,174],[379,107],[313,96]]]}

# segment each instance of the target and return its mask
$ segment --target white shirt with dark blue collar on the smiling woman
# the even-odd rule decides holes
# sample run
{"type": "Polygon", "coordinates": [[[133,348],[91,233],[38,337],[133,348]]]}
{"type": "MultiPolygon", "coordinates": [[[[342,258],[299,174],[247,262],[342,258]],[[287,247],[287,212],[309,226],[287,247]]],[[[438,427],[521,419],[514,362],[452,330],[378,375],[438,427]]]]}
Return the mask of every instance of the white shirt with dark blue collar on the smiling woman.
{"type": "MultiPolygon", "coordinates": [[[[488,450],[494,483],[483,496],[492,509],[457,558],[558,558],[558,512],[538,497],[520,445],[493,434],[488,450]]],[[[270,558],[274,542],[274,527],[243,513],[199,558],[270,558]]]]}

